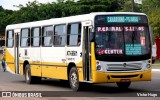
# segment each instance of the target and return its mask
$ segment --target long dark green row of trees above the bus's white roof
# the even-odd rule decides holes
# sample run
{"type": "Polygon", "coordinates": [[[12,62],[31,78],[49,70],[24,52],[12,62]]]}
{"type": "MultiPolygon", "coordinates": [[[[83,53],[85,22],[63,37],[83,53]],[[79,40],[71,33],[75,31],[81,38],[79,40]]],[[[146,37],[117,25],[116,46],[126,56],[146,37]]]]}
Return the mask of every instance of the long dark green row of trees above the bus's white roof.
{"type": "Polygon", "coordinates": [[[9,11],[0,7],[0,29],[9,24],[60,18],[65,16],[86,14],[91,12],[113,12],[122,9],[121,0],[57,0],[42,4],[36,0],[25,6],[18,5],[19,10],[9,11]]]}

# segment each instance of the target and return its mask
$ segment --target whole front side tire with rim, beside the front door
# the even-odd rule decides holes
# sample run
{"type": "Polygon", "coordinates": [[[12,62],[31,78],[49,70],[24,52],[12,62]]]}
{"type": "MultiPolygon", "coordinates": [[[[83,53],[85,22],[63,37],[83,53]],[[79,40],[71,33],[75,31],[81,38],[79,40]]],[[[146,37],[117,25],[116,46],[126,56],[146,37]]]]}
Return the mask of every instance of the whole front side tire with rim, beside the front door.
{"type": "Polygon", "coordinates": [[[76,67],[72,67],[70,72],[69,72],[69,84],[71,89],[73,91],[78,91],[79,90],[79,77],[78,77],[78,71],[76,67]]]}

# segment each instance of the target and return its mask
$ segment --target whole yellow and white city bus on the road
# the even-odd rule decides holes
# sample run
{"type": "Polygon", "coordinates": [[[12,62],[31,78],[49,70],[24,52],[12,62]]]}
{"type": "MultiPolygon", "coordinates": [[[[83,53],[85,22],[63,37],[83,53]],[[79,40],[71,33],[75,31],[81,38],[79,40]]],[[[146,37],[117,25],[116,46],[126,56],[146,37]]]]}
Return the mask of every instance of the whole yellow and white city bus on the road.
{"type": "Polygon", "coordinates": [[[96,12],[8,25],[7,70],[25,76],[81,82],[151,81],[151,36],[147,15],[96,12]]]}

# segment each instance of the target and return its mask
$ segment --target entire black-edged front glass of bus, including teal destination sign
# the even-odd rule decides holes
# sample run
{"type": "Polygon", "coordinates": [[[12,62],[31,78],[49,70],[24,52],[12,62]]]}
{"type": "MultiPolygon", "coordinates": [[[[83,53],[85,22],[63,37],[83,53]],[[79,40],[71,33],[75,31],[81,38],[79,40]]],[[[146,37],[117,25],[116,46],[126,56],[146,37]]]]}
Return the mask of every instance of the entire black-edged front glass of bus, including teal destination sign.
{"type": "Polygon", "coordinates": [[[101,60],[149,59],[150,34],[146,16],[101,15],[95,18],[95,53],[101,60]],[[109,57],[109,58],[108,58],[109,57]],[[116,58],[115,58],[116,57],[116,58]]]}

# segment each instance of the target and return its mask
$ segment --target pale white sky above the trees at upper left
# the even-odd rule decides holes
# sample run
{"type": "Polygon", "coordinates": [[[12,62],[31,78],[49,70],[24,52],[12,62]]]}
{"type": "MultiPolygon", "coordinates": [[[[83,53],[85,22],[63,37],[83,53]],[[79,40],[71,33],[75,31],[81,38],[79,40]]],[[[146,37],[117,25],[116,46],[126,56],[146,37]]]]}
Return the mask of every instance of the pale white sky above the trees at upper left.
{"type": "MultiPolygon", "coordinates": [[[[25,5],[28,3],[28,1],[33,2],[34,0],[0,0],[0,6],[2,6],[4,9],[10,9],[10,10],[18,10],[17,7],[14,7],[13,5],[25,5]]],[[[56,2],[57,0],[37,0],[39,3],[48,3],[48,2],[56,2]]]]}

